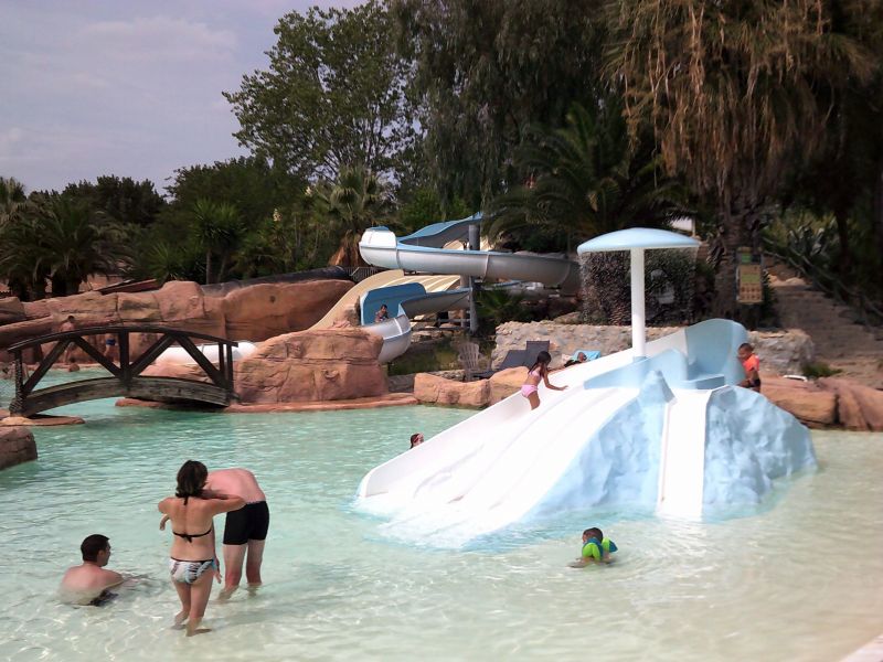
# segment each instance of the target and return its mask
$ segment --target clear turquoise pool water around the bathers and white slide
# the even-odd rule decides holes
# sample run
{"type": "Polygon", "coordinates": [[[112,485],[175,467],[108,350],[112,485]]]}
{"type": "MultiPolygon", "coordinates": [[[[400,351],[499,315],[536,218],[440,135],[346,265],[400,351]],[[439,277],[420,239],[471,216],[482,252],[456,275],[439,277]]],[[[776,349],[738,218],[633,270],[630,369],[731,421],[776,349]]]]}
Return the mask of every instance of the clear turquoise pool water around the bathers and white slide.
{"type": "Polygon", "coordinates": [[[0,659],[817,661],[883,631],[883,435],[813,434],[821,470],[751,516],[573,513],[436,551],[385,538],[352,498],[412,431],[428,438],[470,412],[217,415],[102,401],[65,413],[88,423],[35,429],[40,459],[0,472],[0,659]],[[190,640],[168,629],[178,602],[156,511],[188,458],[253,469],[273,513],[266,586],[213,600],[214,631],[190,640]],[[566,567],[594,523],[618,562],[566,567]],[[110,567],[145,578],[107,608],[57,604],[62,572],[96,532],[111,538],[110,567]]]}

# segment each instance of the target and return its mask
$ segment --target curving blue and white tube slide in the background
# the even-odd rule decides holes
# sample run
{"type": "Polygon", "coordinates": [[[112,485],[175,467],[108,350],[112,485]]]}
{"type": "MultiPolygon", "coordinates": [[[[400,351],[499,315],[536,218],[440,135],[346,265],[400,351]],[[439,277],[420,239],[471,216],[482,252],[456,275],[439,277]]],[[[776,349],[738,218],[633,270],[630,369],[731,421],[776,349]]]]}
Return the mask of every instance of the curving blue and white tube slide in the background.
{"type": "MultiPolygon", "coordinates": [[[[560,287],[565,292],[578,289],[579,265],[570,259],[446,247],[451,242],[466,243],[470,228],[480,224],[479,213],[459,221],[434,223],[401,238],[386,227],[372,227],[362,235],[359,250],[370,265],[387,269],[454,274],[482,280],[526,280],[560,287]]],[[[368,292],[362,300],[362,323],[365,330],[383,338],[380,362],[392,361],[407,350],[412,317],[467,308],[470,297],[470,288],[426,292],[419,284],[395,285],[368,292]],[[386,303],[391,312],[395,311],[395,317],[369,323],[381,303],[386,303]]]]}

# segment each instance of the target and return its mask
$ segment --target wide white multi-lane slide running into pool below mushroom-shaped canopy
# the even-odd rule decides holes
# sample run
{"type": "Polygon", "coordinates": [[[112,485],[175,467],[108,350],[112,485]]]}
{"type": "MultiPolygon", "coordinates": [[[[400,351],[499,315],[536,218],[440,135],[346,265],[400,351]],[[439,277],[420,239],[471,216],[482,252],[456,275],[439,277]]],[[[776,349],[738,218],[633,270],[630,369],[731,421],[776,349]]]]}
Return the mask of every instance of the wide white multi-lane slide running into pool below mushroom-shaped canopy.
{"type": "Polygon", "coordinates": [[[555,372],[551,382],[567,389],[541,385],[538,409],[514,394],[374,468],[359,508],[389,517],[392,535],[440,546],[550,504],[585,508],[593,491],[620,490],[660,514],[699,517],[709,398],[741,378],[735,350],[745,337],[734,322],[711,320],[647,343],[643,357],[626,350],[555,372]],[[617,466],[617,453],[631,457],[617,466]],[[643,473],[629,478],[638,466],[643,473]]]}

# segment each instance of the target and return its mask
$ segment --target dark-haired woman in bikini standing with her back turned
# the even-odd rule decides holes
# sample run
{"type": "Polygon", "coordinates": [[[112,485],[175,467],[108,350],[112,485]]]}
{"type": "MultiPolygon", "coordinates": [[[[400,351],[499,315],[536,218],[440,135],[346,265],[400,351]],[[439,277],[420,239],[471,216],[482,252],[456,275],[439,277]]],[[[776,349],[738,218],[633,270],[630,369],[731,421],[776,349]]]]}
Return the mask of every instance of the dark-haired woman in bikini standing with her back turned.
{"type": "Polygon", "coordinates": [[[212,592],[212,577],[221,580],[212,517],[245,505],[240,496],[227,494],[212,493],[211,499],[203,499],[208,478],[205,465],[188,460],[178,470],[174,496],[159,502],[159,512],[172,523],[169,573],[181,599],[181,611],[174,617],[174,624],[180,627],[187,621],[188,637],[208,632],[205,628],[200,629],[200,621],[212,592]]]}

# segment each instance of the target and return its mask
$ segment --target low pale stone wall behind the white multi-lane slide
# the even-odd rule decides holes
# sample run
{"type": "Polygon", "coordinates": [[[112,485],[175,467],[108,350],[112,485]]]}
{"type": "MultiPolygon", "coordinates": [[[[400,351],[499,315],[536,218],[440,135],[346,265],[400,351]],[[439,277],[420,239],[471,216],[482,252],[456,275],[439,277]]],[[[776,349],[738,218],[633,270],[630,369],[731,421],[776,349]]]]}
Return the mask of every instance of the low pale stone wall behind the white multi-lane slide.
{"type": "MultiPolygon", "coordinates": [[[[656,340],[677,331],[677,327],[651,327],[647,340],[656,340]]],[[[493,365],[499,365],[509,350],[523,350],[529,340],[550,341],[553,366],[563,363],[562,356],[577,350],[599,350],[603,356],[631,346],[630,327],[595,327],[556,322],[507,322],[497,327],[493,365]]],[[[812,340],[800,329],[785,331],[749,331],[748,342],[755,346],[765,372],[800,374],[802,365],[815,356],[812,340]]]]}

